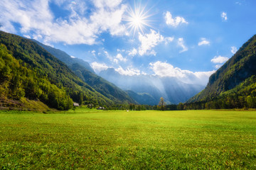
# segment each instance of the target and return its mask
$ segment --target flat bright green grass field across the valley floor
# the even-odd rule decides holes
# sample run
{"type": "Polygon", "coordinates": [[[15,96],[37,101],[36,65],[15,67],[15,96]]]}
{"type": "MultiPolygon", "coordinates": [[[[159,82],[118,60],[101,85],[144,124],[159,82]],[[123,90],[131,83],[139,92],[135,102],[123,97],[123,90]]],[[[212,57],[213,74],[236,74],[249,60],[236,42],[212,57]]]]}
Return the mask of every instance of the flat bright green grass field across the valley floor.
{"type": "Polygon", "coordinates": [[[256,112],[0,111],[0,169],[256,169],[256,112]]]}

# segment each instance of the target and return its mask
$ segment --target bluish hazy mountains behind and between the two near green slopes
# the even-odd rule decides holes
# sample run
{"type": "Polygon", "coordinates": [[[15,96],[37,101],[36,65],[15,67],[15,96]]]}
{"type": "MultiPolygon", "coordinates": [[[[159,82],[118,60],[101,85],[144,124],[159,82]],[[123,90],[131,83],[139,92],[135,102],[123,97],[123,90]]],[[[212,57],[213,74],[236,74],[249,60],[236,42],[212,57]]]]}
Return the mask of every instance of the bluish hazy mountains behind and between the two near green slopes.
{"type": "Polygon", "coordinates": [[[111,99],[117,98],[119,101],[127,101],[128,103],[157,105],[159,99],[164,97],[167,104],[180,103],[187,101],[188,98],[204,88],[200,85],[185,84],[171,77],[125,76],[111,68],[100,72],[98,76],[89,63],[73,58],[61,50],[43,45],[36,40],[33,41],[67,64],[82,81],[111,99]]]}

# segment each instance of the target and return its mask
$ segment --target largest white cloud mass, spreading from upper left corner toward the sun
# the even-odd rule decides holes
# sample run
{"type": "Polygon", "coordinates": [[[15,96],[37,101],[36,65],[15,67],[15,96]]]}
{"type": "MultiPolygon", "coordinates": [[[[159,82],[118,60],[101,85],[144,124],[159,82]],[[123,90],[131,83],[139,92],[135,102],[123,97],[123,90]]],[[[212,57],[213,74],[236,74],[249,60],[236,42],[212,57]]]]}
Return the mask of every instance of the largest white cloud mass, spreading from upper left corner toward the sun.
{"type": "Polygon", "coordinates": [[[96,44],[98,36],[103,32],[109,32],[111,35],[127,34],[122,24],[122,16],[127,6],[121,4],[121,0],[78,2],[1,0],[0,29],[10,33],[16,33],[19,29],[23,35],[34,34],[33,37],[44,42],[87,45],[96,44]],[[69,16],[55,18],[54,13],[50,11],[50,2],[69,10],[69,16]],[[87,16],[85,9],[89,3],[92,3],[92,13],[87,16]],[[14,23],[21,27],[14,28],[14,23]]]}

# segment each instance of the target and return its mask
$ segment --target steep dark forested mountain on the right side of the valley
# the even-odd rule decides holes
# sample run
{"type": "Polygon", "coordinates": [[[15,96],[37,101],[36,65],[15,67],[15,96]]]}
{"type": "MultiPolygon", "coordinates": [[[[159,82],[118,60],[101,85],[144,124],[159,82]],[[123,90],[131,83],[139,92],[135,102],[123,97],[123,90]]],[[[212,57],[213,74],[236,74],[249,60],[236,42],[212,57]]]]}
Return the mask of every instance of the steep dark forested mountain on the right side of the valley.
{"type": "Polygon", "coordinates": [[[212,74],[206,89],[190,98],[188,103],[204,102],[215,104],[217,108],[253,106],[256,104],[255,65],[256,35],[212,74]]]}

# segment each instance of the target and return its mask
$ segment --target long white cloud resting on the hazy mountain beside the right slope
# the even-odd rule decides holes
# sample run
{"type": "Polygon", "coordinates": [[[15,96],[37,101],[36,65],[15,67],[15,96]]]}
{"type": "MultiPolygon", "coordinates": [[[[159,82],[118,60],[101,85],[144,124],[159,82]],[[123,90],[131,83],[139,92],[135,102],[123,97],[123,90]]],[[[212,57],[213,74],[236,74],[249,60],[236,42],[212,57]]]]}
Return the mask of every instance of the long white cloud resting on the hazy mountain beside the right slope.
{"type": "Polygon", "coordinates": [[[154,62],[149,64],[154,74],[159,77],[176,77],[180,81],[187,84],[200,84],[206,86],[208,78],[215,71],[210,72],[191,72],[189,70],[183,70],[167,62],[154,62]]]}

